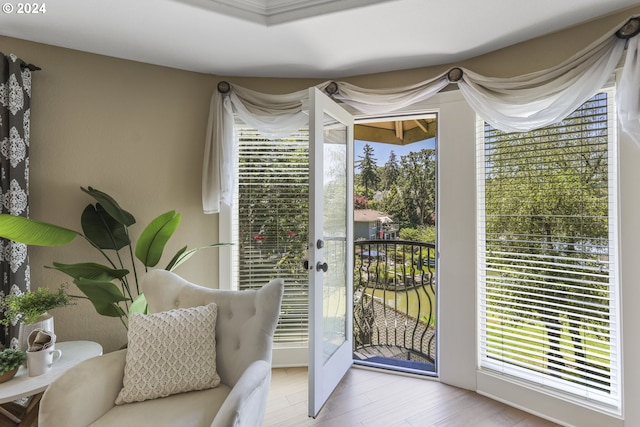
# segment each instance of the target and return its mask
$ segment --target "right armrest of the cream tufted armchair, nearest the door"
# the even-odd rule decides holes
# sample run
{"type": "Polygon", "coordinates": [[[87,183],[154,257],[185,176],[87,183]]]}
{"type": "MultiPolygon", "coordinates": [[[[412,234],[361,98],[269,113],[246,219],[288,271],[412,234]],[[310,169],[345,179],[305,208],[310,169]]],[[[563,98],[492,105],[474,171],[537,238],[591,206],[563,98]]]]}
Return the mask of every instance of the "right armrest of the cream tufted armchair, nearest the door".
{"type": "Polygon", "coordinates": [[[271,364],[258,360],[249,365],[220,407],[211,427],[262,425],[271,383],[271,364]]]}

